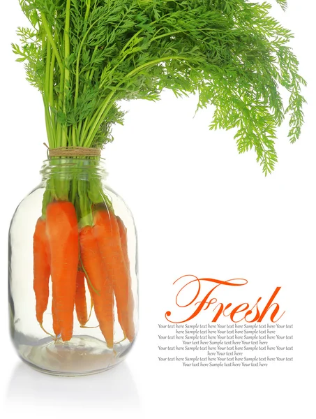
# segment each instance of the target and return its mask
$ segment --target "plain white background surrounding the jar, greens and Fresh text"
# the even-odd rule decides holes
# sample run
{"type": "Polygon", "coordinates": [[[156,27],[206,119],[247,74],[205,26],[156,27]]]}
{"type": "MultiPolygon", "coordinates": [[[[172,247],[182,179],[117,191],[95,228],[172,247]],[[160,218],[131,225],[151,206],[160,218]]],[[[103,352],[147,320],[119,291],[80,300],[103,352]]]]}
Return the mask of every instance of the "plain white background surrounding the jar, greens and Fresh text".
{"type": "MultiPolygon", "coordinates": [[[[18,1],[1,5],[1,378],[3,409],[55,418],[312,418],[315,414],[315,3],[289,0],[273,15],[292,42],[308,80],[306,124],[295,145],[286,124],[278,164],[264,177],[253,153],[239,155],[232,132],[208,130],[211,110],[195,118],[194,97],[127,103],[125,126],[103,156],[110,185],[132,210],[139,236],[140,331],[133,351],[110,372],[84,378],[45,376],[22,365],[10,343],[7,234],[20,200],[38,184],[45,159],[40,94],[24,80],[10,42],[24,24],[18,1]],[[267,369],[183,369],[158,362],[158,327],[174,305],[183,274],[248,279],[239,300],[278,302],[294,323],[294,363],[267,369]],[[308,383],[310,380],[310,383],[308,383]],[[314,388],[312,387],[314,386],[314,388]]],[[[242,301],[241,301],[242,302],[242,301]]],[[[201,323],[209,320],[207,312],[201,323]]],[[[3,411],[3,410],[2,410],[3,411]]]]}

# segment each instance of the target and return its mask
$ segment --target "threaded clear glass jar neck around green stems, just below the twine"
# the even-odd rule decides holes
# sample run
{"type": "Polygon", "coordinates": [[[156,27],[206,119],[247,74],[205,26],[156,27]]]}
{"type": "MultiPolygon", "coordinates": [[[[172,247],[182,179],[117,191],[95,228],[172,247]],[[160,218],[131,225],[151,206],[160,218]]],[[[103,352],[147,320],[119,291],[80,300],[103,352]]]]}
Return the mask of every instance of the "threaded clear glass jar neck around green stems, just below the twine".
{"type": "Polygon", "coordinates": [[[100,157],[54,157],[43,162],[40,174],[44,183],[53,178],[65,180],[105,179],[107,172],[104,162],[105,160],[100,159],[100,157]]]}

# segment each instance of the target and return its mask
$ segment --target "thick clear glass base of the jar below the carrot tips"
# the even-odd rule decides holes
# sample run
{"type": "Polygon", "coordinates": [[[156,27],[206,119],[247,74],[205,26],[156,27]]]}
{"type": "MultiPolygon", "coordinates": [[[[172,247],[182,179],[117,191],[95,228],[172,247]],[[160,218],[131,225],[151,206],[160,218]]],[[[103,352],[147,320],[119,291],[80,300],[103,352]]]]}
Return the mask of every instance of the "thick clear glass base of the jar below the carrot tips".
{"type": "Polygon", "coordinates": [[[36,346],[19,345],[17,351],[33,369],[54,376],[85,376],[98,374],[119,364],[131,344],[107,348],[105,341],[91,336],[73,336],[68,342],[41,341],[36,346]]]}

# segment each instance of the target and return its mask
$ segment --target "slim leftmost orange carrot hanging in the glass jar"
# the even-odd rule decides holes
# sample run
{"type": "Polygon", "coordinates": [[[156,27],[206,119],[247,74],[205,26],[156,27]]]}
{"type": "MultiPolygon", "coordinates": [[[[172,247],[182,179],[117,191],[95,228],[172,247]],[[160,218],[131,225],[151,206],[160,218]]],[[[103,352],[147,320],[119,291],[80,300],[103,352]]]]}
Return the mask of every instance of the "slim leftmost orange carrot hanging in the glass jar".
{"type": "Polygon", "coordinates": [[[50,281],[50,255],[46,235],[46,221],[39,218],[33,235],[33,290],[36,297],[36,318],[43,323],[47,309],[50,281]]]}

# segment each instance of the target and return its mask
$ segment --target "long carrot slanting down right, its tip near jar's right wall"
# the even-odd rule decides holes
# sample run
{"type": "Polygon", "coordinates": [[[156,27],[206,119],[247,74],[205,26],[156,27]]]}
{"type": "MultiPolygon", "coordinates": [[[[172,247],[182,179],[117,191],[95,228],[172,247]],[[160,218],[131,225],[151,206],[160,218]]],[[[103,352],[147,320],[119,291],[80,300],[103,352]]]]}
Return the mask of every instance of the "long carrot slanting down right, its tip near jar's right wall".
{"type": "Polygon", "coordinates": [[[121,247],[119,224],[116,216],[105,210],[96,211],[94,224],[103,267],[113,286],[119,323],[124,335],[129,341],[133,341],[135,337],[133,293],[130,290],[128,270],[121,247]]]}

